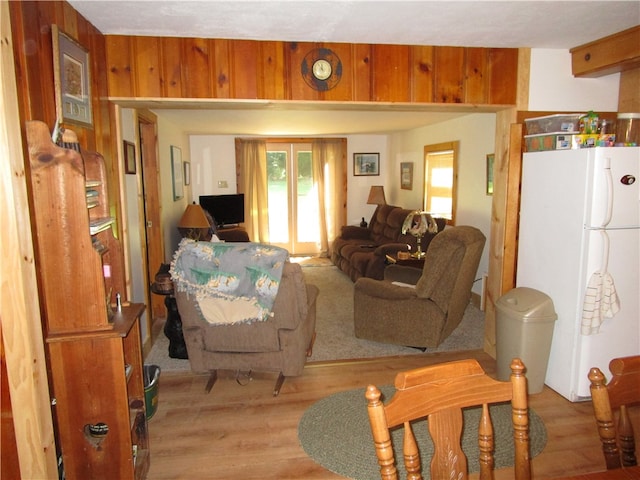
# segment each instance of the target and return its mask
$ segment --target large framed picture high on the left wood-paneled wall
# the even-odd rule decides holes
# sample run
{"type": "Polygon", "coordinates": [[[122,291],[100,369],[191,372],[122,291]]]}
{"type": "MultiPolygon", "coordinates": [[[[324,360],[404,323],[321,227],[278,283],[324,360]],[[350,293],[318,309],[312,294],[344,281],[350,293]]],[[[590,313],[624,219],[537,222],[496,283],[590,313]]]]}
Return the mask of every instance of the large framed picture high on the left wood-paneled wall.
{"type": "Polygon", "coordinates": [[[57,25],[53,33],[53,78],[56,114],[64,122],[93,126],[89,52],[57,25]]]}

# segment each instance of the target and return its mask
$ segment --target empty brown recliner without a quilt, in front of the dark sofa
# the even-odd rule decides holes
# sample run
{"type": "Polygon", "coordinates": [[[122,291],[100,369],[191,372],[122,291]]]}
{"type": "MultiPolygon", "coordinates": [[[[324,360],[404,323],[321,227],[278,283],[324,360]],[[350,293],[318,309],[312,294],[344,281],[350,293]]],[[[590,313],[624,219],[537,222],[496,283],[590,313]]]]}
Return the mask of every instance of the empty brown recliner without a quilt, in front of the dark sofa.
{"type": "Polygon", "coordinates": [[[447,228],[431,241],[422,270],[391,265],[384,280],[358,279],[353,312],[356,337],[437,347],[462,320],[485,240],[475,227],[447,228]]]}

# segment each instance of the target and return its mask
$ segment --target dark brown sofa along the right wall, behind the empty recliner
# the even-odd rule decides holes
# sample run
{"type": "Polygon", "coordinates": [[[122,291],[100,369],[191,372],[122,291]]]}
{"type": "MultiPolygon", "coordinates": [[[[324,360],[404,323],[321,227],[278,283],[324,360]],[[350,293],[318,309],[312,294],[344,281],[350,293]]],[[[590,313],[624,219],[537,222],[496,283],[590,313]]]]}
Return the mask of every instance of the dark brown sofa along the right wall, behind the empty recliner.
{"type": "MultiPolygon", "coordinates": [[[[349,275],[352,281],[360,277],[382,280],[386,255],[398,251],[415,251],[416,237],[402,234],[402,224],[412,210],[394,205],[380,205],[373,213],[369,226],[344,226],[331,247],[331,261],[349,275]]],[[[444,218],[435,218],[438,231],[445,227],[444,218]]],[[[422,237],[422,250],[426,251],[436,234],[422,237]]]]}

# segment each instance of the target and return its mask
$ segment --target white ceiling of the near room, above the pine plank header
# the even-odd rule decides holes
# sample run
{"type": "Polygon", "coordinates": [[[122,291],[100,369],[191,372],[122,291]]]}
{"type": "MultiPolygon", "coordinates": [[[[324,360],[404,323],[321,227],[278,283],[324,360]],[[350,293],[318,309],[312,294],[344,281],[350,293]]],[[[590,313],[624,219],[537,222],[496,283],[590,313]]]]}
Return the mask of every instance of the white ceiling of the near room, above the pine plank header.
{"type": "Polygon", "coordinates": [[[569,49],[640,23],[629,1],[68,0],[104,34],[569,49]]]}

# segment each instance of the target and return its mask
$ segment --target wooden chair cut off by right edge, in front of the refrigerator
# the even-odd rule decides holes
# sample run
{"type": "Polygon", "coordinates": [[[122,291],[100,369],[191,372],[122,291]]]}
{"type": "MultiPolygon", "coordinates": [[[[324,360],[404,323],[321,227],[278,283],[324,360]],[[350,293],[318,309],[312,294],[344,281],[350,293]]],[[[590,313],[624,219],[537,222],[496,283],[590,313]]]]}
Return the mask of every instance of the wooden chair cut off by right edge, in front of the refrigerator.
{"type": "Polygon", "coordinates": [[[607,470],[613,470],[638,464],[628,407],[640,404],[640,356],[614,358],[609,370],[613,376],[608,384],[599,368],[589,371],[589,380],[604,460],[607,470]]]}

